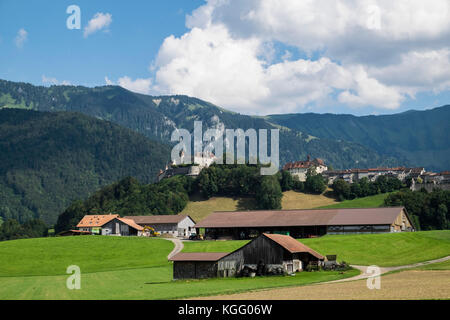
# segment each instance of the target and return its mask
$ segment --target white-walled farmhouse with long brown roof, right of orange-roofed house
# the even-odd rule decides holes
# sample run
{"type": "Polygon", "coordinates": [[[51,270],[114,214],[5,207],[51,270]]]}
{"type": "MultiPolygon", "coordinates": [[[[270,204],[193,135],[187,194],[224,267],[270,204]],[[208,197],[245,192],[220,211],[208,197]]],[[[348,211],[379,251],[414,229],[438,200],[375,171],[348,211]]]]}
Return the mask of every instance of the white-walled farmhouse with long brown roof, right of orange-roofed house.
{"type": "Polygon", "coordinates": [[[154,216],[126,216],[141,227],[152,227],[161,234],[171,234],[174,237],[189,237],[195,232],[195,221],[186,215],[154,215],[154,216]]]}

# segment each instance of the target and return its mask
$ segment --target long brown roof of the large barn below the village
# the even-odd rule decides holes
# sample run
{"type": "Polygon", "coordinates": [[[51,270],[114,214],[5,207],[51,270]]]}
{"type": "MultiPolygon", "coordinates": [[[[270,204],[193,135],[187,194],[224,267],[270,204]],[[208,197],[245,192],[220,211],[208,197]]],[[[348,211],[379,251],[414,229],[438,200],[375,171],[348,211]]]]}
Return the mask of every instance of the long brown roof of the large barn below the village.
{"type": "Polygon", "coordinates": [[[196,228],[289,227],[392,224],[403,207],[218,211],[195,225],[196,228]]]}

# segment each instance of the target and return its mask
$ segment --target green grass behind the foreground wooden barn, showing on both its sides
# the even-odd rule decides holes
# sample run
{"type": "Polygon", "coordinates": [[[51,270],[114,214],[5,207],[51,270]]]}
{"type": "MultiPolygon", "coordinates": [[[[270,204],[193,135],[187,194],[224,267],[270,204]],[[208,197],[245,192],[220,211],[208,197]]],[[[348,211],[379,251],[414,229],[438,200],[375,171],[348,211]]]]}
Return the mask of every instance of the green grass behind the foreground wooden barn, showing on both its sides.
{"type": "MultiPolygon", "coordinates": [[[[301,239],[323,255],[337,254],[339,261],[380,267],[401,266],[450,255],[450,231],[422,231],[368,235],[328,235],[301,239]]],[[[201,241],[185,244],[185,252],[229,252],[246,241],[201,241]]]]}

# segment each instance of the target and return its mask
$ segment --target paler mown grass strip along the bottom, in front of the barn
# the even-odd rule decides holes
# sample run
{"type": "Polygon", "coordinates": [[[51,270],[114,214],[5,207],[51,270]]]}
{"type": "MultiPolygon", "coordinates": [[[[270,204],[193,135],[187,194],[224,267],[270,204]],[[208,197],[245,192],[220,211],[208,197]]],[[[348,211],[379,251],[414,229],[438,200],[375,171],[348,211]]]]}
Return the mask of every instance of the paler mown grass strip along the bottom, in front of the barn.
{"type": "Polygon", "coordinates": [[[181,299],[265,288],[307,285],[359,274],[302,272],[296,276],[172,281],[172,266],[82,274],[81,289],[68,290],[67,276],[0,278],[0,299],[181,299]]]}

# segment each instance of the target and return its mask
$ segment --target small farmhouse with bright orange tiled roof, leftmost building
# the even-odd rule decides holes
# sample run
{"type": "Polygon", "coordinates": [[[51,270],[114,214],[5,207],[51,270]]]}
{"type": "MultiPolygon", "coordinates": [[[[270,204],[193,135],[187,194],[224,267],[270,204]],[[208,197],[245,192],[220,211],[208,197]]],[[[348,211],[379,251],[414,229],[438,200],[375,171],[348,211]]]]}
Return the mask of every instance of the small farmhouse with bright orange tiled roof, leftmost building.
{"type": "Polygon", "coordinates": [[[118,214],[85,215],[77,228],[92,234],[116,236],[140,236],[144,230],[133,220],[120,218],[118,214]]]}

